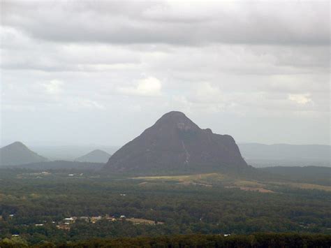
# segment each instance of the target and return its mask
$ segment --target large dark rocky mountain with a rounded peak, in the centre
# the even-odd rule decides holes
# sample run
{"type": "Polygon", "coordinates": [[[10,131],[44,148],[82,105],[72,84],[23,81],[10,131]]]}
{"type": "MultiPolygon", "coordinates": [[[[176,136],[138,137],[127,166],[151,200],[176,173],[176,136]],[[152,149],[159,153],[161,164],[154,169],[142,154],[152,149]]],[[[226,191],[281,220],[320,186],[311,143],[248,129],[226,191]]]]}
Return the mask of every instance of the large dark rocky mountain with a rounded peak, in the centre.
{"type": "Polygon", "coordinates": [[[115,152],[104,169],[122,173],[168,173],[248,167],[231,136],[200,129],[184,113],[172,111],[115,152]]]}

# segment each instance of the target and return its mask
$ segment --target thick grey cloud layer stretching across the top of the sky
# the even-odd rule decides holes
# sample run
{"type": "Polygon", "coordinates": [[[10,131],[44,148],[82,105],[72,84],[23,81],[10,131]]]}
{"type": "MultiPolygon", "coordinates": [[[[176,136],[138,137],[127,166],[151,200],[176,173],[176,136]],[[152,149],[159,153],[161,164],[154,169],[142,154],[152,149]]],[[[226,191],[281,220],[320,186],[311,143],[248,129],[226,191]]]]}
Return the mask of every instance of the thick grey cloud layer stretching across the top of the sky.
{"type": "Polygon", "coordinates": [[[328,45],[328,3],[6,3],[3,24],[56,42],[328,45]],[[193,5],[194,6],[194,5],[193,5]],[[185,11],[189,8],[191,11],[185,11]],[[195,15],[203,13],[202,15],[195,15]],[[65,20],[61,22],[60,20],[65,20]]]}

